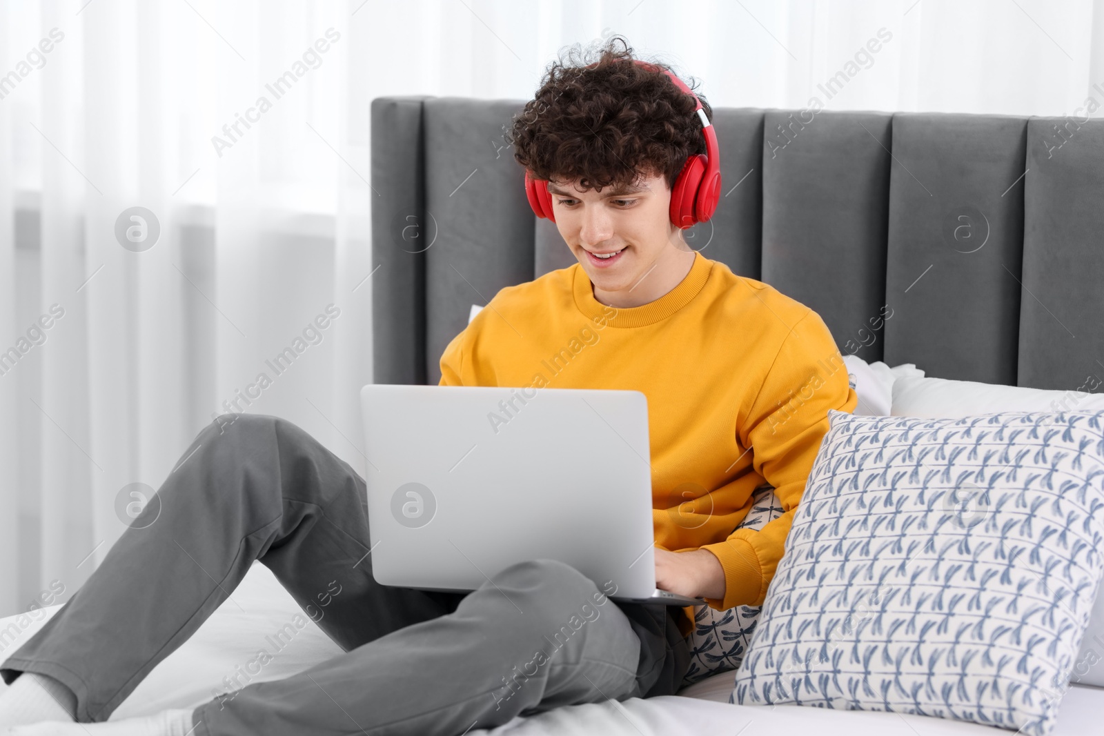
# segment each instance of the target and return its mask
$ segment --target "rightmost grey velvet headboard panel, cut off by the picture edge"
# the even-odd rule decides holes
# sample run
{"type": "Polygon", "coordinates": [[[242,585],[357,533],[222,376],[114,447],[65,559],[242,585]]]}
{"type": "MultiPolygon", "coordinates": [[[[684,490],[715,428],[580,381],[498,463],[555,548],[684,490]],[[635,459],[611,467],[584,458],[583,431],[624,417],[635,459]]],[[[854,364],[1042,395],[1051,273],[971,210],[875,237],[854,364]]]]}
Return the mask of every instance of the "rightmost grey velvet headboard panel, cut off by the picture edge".
{"type": "Polygon", "coordinates": [[[1104,121],[1031,118],[1027,145],[1019,385],[1101,391],[1104,121]]]}

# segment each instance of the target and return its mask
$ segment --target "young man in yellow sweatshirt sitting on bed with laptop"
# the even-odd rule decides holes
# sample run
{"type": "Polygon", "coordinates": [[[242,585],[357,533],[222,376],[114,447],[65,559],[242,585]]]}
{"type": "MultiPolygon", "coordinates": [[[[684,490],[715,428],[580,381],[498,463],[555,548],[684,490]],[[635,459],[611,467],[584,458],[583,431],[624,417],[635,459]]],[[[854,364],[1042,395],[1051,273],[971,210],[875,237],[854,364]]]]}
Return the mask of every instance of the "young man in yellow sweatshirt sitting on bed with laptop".
{"type": "MultiPolygon", "coordinates": [[[[827,410],[852,410],[857,397],[815,312],[687,246],[670,188],[687,157],[704,152],[696,103],[618,41],[590,66],[553,65],[510,132],[518,161],[549,182],[578,263],[499,291],[445,350],[440,383],[644,392],[659,586],[718,609],[754,606],[827,410]],[[764,480],[786,513],[734,532],[764,480]]],[[[0,665],[12,684],[0,726],[19,736],[445,735],[681,685],[692,609],[614,604],[565,564],[521,562],[467,595],[376,584],[364,481],[290,423],[216,422],[181,457],[158,491],[158,522],[141,529],[139,516],[0,665]],[[193,711],[94,723],[254,559],[305,609],[340,586],[318,625],[346,653],[193,711]],[[41,721],[60,723],[19,726],[41,721]]]]}

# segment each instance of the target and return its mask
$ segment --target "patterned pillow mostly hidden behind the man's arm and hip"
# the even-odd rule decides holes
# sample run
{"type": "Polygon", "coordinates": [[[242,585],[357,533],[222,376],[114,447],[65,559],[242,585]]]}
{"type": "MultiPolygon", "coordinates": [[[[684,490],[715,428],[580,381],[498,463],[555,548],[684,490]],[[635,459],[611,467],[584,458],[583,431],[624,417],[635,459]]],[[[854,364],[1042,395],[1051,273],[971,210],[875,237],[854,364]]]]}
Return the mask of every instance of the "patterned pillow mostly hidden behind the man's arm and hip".
{"type": "MultiPolygon", "coordinates": [[[[782,502],[774,494],[774,486],[760,486],[752,493],[752,508],[736,529],[762,529],[768,521],[783,514],[782,502]]],[[[735,606],[719,611],[702,606],[694,612],[694,628],[687,636],[690,647],[690,669],[682,679],[683,685],[698,682],[718,672],[740,666],[762,606],[735,606]]]]}

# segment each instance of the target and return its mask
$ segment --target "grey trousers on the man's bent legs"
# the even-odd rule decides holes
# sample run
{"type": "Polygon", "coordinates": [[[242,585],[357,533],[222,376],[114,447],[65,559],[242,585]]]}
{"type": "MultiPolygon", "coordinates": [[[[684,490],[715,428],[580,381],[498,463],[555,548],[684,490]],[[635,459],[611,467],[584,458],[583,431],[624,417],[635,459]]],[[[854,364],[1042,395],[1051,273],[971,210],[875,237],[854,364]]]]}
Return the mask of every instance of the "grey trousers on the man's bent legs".
{"type": "Polygon", "coordinates": [[[608,600],[563,563],[518,563],[469,594],[379,585],[364,481],[289,422],[223,417],[181,459],[159,503],[3,662],[4,682],[50,675],[76,694],[77,721],[106,721],[259,559],[344,653],[195,708],[197,736],[460,734],[681,685],[675,609],[608,600]]]}

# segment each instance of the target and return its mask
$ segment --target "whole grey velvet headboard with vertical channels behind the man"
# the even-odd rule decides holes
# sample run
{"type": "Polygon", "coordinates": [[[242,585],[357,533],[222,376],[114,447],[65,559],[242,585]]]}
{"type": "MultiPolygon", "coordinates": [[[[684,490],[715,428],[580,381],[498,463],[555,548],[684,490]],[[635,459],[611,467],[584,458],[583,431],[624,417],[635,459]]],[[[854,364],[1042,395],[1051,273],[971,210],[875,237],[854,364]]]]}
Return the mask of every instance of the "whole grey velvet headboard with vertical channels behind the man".
{"type": "MultiPolygon", "coordinates": [[[[574,263],[502,139],[522,106],[372,100],[376,383],[437,383],[473,303],[574,263]]],[[[688,242],[815,309],[845,354],[1104,382],[1104,121],[715,108],[713,122],[724,196],[688,242]]]]}

